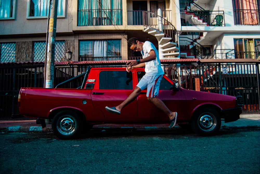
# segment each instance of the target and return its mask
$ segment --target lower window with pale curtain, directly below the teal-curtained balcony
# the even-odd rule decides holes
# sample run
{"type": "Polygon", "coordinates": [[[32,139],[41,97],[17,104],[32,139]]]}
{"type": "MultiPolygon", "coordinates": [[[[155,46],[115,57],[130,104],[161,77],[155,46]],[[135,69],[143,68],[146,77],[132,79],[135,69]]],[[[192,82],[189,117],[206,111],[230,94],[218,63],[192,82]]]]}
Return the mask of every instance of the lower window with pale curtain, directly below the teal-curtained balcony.
{"type": "Polygon", "coordinates": [[[121,60],[121,40],[79,42],[79,61],[121,60]]]}

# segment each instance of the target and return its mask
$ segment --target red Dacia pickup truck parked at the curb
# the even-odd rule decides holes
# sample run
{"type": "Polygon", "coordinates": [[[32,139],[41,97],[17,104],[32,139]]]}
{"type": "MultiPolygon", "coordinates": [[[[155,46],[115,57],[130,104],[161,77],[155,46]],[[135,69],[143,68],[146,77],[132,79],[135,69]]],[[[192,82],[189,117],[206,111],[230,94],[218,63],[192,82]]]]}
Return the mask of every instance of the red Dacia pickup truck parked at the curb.
{"type": "MultiPolygon", "coordinates": [[[[117,106],[125,100],[144,74],[143,68],[128,73],[121,67],[89,66],[81,75],[84,80],[79,88],[21,88],[19,111],[24,117],[39,118],[43,127],[44,120],[49,119],[53,132],[61,139],[74,138],[95,124],[169,123],[167,115],[147,100],[146,89],[120,115],[106,111],[106,106],[117,106]]],[[[236,121],[242,113],[242,96],[187,90],[165,75],[158,98],[178,112],[179,126],[191,126],[202,135],[215,134],[221,120],[236,121]]]]}

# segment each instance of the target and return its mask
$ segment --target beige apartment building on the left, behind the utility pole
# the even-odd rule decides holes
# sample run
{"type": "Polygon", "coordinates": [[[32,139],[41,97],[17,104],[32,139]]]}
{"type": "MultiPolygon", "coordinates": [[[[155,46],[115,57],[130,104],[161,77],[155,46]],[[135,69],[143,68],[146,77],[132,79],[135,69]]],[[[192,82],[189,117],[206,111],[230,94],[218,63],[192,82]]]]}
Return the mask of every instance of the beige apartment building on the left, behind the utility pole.
{"type": "MultiPolygon", "coordinates": [[[[1,1],[0,62],[45,60],[48,3],[1,1]]],[[[168,43],[160,48],[162,58],[179,57],[174,1],[58,0],[57,9],[57,62],[66,61],[64,52],[68,49],[73,52],[72,61],[135,59],[131,57],[140,54],[127,48],[130,37],[149,40],[158,49],[159,44],[168,43]],[[159,8],[163,16],[160,20],[159,8]],[[161,27],[158,21],[163,22],[161,27]]]]}

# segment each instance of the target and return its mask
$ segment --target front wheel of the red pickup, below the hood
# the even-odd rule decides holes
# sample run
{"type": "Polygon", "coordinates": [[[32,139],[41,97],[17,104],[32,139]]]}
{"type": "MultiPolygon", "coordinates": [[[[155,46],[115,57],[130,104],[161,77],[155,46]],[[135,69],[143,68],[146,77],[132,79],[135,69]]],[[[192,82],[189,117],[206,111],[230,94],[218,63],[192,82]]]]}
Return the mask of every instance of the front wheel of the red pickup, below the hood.
{"type": "Polygon", "coordinates": [[[221,126],[219,113],[214,108],[203,108],[194,113],[191,128],[202,136],[216,134],[221,126]]]}

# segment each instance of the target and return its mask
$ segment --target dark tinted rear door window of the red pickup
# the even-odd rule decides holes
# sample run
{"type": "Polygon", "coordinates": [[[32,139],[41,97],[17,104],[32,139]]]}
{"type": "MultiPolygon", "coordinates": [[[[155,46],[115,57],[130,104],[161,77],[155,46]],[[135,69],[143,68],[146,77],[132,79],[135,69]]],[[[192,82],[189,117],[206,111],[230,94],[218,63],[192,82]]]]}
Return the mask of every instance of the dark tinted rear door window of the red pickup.
{"type": "Polygon", "coordinates": [[[133,90],[132,72],[101,71],[99,74],[99,89],[133,90]]]}

